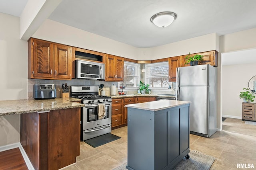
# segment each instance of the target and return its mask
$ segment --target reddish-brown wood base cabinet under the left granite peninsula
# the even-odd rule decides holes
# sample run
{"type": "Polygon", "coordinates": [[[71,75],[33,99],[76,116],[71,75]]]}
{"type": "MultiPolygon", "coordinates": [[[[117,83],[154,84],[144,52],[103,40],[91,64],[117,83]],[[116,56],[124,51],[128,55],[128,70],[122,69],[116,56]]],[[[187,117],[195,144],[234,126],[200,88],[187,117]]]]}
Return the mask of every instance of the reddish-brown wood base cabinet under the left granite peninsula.
{"type": "Polygon", "coordinates": [[[57,170],[80,155],[80,107],[21,114],[20,143],[35,170],[57,170]]]}

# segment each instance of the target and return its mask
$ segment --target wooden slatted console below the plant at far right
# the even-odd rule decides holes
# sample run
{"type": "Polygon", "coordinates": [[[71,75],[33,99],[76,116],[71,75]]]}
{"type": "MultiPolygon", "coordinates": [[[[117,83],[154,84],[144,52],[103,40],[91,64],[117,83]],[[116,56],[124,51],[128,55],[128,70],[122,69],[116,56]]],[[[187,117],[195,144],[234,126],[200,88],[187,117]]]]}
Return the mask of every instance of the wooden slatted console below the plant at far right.
{"type": "Polygon", "coordinates": [[[256,103],[242,103],[242,120],[256,121],[255,119],[256,103]]]}

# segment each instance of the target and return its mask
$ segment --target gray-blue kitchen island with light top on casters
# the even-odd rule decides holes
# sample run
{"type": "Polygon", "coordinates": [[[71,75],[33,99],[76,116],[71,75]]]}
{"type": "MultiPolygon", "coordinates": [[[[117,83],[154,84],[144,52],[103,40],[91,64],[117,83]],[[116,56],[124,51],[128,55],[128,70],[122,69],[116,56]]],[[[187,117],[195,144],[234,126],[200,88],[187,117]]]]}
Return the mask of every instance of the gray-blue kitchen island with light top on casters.
{"type": "Polygon", "coordinates": [[[190,102],[129,104],[128,170],[169,170],[189,158],[190,102]]]}

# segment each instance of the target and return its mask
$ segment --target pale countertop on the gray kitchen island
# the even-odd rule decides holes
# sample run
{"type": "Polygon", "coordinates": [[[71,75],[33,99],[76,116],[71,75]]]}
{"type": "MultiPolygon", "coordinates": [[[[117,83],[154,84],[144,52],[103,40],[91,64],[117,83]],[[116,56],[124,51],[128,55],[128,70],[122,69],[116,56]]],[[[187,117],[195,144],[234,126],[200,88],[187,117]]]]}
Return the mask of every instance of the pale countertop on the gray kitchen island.
{"type": "Polygon", "coordinates": [[[191,102],[179,101],[179,100],[158,100],[158,101],[153,101],[153,102],[127,104],[125,106],[136,108],[136,109],[158,111],[158,110],[181,106],[181,105],[190,104],[190,103],[191,102]]]}

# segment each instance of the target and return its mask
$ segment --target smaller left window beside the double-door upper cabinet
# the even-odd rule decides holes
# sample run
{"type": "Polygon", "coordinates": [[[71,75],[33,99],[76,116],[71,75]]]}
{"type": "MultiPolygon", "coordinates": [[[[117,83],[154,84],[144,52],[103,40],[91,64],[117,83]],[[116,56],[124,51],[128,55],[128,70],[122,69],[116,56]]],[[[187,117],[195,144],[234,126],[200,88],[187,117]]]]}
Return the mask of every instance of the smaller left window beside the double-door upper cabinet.
{"type": "Polygon", "coordinates": [[[137,88],[140,80],[140,64],[124,62],[124,82],[118,83],[119,86],[125,88],[137,88]]]}

